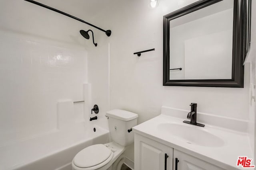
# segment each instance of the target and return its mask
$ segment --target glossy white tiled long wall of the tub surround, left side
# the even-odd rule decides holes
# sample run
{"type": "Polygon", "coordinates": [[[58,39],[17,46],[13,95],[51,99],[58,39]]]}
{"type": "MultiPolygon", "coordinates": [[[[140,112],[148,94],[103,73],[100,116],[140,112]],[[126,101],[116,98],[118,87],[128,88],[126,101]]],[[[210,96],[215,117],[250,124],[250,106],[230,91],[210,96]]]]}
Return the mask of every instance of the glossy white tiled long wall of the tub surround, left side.
{"type": "Polygon", "coordinates": [[[84,47],[0,28],[0,147],[85,121],[87,68],[84,47]]]}

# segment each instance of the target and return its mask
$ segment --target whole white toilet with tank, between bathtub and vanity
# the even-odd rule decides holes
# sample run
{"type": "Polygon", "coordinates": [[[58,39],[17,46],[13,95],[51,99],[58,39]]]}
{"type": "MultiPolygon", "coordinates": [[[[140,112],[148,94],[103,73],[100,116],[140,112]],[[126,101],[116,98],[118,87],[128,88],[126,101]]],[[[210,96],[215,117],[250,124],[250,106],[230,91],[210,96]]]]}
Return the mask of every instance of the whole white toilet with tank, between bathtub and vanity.
{"type": "Polygon", "coordinates": [[[138,115],[114,109],[106,112],[112,142],[86,147],[72,160],[73,170],[120,170],[124,163],[124,150],[134,142],[130,129],[137,125],[138,115]],[[129,132],[128,132],[129,130],[129,132]]]}

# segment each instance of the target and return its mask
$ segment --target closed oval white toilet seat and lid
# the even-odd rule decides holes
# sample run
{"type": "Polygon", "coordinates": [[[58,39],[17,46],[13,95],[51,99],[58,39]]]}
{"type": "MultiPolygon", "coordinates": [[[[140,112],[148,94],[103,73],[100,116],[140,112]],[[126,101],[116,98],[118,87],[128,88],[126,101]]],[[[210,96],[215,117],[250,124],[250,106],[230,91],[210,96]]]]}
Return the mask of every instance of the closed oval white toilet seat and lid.
{"type": "Polygon", "coordinates": [[[73,164],[82,170],[95,170],[110,162],[113,156],[112,150],[105,145],[92,145],[78,152],[73,164]]]}

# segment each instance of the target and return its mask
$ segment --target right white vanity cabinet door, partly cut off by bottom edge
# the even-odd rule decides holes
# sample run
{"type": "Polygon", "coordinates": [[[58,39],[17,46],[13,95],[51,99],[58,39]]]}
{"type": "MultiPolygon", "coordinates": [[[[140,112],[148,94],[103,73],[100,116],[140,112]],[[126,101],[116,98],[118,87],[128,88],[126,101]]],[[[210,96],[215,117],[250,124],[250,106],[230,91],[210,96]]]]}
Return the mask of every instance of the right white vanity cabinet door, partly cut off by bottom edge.
{"type": "Polygon", "coordinates": [[[224,169],[174,149],[173,170],[224,170],[224,169]],[[176,158],[178,159],[178,162],[176,161],[176,158]]]}

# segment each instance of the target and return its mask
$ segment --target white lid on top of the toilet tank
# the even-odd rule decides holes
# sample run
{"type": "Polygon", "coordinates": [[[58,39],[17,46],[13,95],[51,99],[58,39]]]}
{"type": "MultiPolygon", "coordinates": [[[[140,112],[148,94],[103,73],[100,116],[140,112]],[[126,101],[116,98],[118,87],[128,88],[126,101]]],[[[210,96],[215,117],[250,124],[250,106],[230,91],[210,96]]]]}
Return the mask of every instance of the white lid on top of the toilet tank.
{"type": "Polygon", "coordinates": [[[108,117],[113,117],[123,121],[133,120],[138,117],[136,113],[132,113],[130,111],[121,110],[121,109],[113,109],[113,110],[107,111],[106,115],[108,117]]]}

